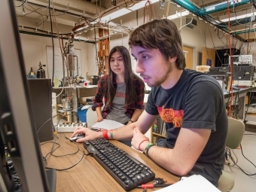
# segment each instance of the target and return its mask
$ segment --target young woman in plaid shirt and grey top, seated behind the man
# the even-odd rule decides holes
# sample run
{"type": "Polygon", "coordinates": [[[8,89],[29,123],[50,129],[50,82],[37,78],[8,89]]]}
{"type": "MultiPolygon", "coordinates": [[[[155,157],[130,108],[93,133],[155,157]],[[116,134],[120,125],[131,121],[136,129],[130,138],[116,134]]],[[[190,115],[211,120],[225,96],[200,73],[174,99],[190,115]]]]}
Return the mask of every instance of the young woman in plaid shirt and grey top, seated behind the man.
{"type": "Polygon", "coordinates": [[[93,100],[96,122],[103,119],[123,124],[135,122],[144,110],[144,95],[145,84],[132,71],[129,51],[123,46],[113,47],[108,56],[108,75],[99,80],[93,100]]]}

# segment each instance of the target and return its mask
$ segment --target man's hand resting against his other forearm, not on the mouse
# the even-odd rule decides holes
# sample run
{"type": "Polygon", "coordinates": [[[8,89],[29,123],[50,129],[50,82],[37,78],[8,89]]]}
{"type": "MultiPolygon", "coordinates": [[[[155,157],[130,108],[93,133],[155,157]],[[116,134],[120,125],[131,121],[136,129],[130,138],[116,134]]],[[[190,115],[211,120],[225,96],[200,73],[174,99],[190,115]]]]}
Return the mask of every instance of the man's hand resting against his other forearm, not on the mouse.
{"type": "Polygon", "coordinates": [[[135,127],[133,129],[133,147],[138,149],[139,151],[145,151],[145,148],[147,147],[148,143],[150,143],[148,137],[142,134],[140,130],[137,127],[135,127]]]}

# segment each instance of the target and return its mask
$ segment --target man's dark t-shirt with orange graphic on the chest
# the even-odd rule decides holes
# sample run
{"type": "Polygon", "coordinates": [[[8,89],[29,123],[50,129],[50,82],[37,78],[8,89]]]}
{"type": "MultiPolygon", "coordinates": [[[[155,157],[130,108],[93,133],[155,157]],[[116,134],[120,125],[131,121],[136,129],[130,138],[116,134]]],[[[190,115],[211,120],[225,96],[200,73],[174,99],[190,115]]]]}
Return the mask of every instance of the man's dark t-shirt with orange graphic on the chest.
{"type": "Polygon", "coordinates": [[[181,127],[212,130],[206,147],[189,174],[203,175],[218,186],[227,137],[224,94],[218,81],[201,72],[185,69],[171,89],[152,88],[145,110],[148,114],[159,114],[166,123],[167,148],[175,146],[181,127]]]}

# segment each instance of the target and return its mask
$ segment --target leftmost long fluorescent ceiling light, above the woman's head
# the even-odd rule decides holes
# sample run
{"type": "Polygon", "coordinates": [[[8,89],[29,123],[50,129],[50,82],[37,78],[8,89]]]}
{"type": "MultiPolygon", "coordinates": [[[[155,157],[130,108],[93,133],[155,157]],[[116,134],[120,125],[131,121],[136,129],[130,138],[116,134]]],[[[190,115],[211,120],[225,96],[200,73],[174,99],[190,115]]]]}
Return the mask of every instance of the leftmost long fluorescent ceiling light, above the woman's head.
{"type": "MultiPolygon", "coordinates": [[[[121,8],[120,7],[120,9],[118,9],[117,11],[114,11],[111,14],[103,15],[101,20],[114,20],[117,17],[121,17],[121,16],[123,16],[125,14],[129,14],[132,11],[136,11],[136,10],[138,10],[140,8],[144,8],[146,2],[147,1],[142,1],[142,2],[136,3],[135,5],[133,5],[133,7],[130,7],[130,8],[121,8]]],[[[155,2],[159,2],[159,0],[151,0],[151,4],[154,4],[155,2]]]]}

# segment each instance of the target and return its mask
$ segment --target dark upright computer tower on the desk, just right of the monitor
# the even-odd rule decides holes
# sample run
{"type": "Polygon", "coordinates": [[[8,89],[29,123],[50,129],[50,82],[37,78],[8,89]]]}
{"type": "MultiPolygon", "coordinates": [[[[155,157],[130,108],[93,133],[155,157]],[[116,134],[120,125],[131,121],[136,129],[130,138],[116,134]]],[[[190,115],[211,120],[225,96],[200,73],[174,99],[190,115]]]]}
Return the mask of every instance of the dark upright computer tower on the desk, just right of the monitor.
{"type": "Polygon", "coordinates": [[[38,139],[40,142],[52,140],[52,87],[50,79],[28,79],[28,87],[38,139]]]}

